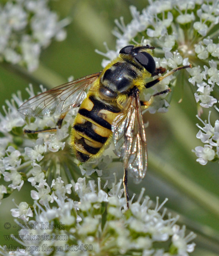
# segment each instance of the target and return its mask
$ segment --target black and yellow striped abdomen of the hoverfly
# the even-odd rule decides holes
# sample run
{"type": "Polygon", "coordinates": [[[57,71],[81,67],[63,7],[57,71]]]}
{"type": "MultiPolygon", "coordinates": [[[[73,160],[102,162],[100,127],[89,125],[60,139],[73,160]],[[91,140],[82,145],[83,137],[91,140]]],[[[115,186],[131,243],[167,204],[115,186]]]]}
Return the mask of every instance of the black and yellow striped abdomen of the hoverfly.
{"type": "Polygon", "coordinates": [[[120,113],[115,104],[107,104],[90,91],[74,120],[71,146],[81,162],[98,157],[110,142],[111,124],[120,113]]]}

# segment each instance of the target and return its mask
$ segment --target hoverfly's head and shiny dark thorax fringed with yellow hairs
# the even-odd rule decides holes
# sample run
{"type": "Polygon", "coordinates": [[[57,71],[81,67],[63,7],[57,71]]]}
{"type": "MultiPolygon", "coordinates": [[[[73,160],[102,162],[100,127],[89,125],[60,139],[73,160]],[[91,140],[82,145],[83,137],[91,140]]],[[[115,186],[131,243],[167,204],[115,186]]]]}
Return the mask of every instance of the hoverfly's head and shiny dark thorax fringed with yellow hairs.
{"type": "Polygon", "coordinates": [[[120,50],[118,58],[105,67],[99,78],[98,93],[107,101],[128,95],[133,87],[142,90],[145,79],[155,71],[149,46],[130,45],[120,50]]]}

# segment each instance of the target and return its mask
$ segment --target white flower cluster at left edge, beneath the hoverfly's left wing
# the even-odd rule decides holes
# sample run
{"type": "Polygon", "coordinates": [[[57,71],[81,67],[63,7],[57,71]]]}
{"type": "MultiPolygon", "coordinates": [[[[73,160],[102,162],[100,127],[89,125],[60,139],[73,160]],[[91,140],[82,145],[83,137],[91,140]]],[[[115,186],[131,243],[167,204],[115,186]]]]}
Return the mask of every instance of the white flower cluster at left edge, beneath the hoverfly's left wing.
{"type": "MultiPolygon", "coordinates": [[[[41,87],[42,91],[45,91],[41,87]]],[[[32,86],[27,89],[30,97],[34,96],[32,86]]],[[[3,106],[5,116],[0,113],[0,173],[1,178],[8,182],[7,189],[1,185],[0,198],[8,196],[14,189],[22,188],[24,181],[28,180],[37,189],[47,186],[46,179],[51,174],[58,178],[66,168],[70,169],[69,182],[74,180],[71,172],[79,169],[74,163],[69,143],[70,125],[76,110],[70,111],[65,117],[62,129],[53,133],[40,133],[38,135],[24,135],[23,129],[36,130],[42,127],[55,127],[58,117],[51,118],[25,118],[18,113],[17,105],[23,101],[20,92],[13,95],[11,102],[6,101],[8,109],[3,106]],[[66,154],[65,154],[66,152],[66,154]]],[[[78,170],[78,175],[80,170],[78,170]]],[[[79,176],[78,176],[79,177],[79,176]]],[[[36,199],[41,197],[34,194],[36,199]]],[[[42,195],[44,200],[45,195],[42,195]]],[[[46,200],[46,199],[45,199],[46,200]]]]}

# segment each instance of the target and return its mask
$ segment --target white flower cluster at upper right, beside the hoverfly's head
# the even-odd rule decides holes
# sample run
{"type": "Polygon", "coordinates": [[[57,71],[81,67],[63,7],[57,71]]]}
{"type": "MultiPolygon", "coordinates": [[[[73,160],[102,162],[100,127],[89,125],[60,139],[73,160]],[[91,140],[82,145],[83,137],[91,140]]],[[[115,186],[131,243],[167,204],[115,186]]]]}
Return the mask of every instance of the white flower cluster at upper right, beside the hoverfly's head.
{"type": "MultiPolygon", "coordinates": [[[[157,68],[172,69],[191,63],[192,68],[187,68],[186,74],[185,71],[177,72],[177,81],[183,81],[182,84],[187,83],[185,87],[192,88],[198,104],[197,112],[200,115],[202,108],[216,106],[219,99],[219,1],[150,0],[149,3],[141,14],[136,7],[130,7],[132,20],[129,24],[125,25],[123,17],[120,18],[120,22],[115,20],[118,27],[113,31],[117,37],[116,51],[106,47],[107,53],[98,50],[96,52],[112,60],[122,47],[141,40],[143,44],[155,46],[154,59],[157,68]],[[145,35],[147,39],[144,39],[145,35]]],[[[103,67],[110,60],[104,59],[103,67]]],[[[175,86],[176,75],[147,89],[146,100],[168,86],[175,86]]],[[[166,112],[169,101],[168,95],[156,96],[148,110],[150,113],[166,112]]],[[[215,137],[212,141],[216,143],[215,137]]],[[[215,147],[215,144],[205,146],[204,151],[212,152],[211,146],[215,147]]],[[[196,155],[200,158],[203,150],[196,149],[196,155]]],[[[218,154],[216,152],[218,149],[215,151],[215,154],[218,154]]],[[[211,154],[205,159],[212,160],[214,157],[211,154]]],[[[206,160],[199,162],[203,164],[206,160]]]]}

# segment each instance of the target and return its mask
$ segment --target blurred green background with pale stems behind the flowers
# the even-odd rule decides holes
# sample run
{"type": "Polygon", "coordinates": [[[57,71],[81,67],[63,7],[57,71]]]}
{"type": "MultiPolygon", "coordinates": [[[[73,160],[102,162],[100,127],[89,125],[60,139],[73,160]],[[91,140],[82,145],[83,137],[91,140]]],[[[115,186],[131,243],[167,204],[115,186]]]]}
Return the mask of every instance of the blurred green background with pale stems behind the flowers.
{"type": "MultiPolygon", "coordinates": [[[[43,50],[39,68],[32,74],[1,63],[1,104],[18,89],[22,91],[23,99],[27,98],[25,88],[28,83],[32,83],[34,89],[39,88],[40,83],[51,88],[66,82],[71,75],[79,78],[100,71],[103,57],[94,50],[105,52],[104,41],[110,49],[115,49],[116,38],[111,33],[115,27],[114,19],[123,16],[126,24],[130,22],[131,4],[139,11],[146,6],[145,1],[134,0],[51,1],[51,9],[60,18],[69,16],[72,19],[67,27],[67,39],[52,42],[43,50]]],[[[174,90],[168,113],[144,115],[145,122],[149,121],[146,129],[149,167],[146,178],[139,185],[129,180],[129,187],[131,195],[133,192],[138,194],[141,187],[145,187],[145,194],[154,201],[156,196],[160,197],[160,202],[168,197],[165,206],[173,215],[180,214],[178,223],[185,224],[188,230],[197,234],[196,249],[191,255],[214,256],[219,255],[219,166],[218,163],[201,166],[191,151],[196,146],[203,146],[196,139],[199,131],[195,125],[199,122],[196,114],[191,90],[185,86],[182,89],[179,85],[174,90]],[[183,101],[178,104],[181,97],[183,101]]],[[[218,118],[217,114],[212,112],[212,124],[218,118]]],[[[207,116],[208,110],[205,110],[201,118],[204,120],[207,116]]],[[[26,189],[25,186],[22,188],[19,198],[27,197],[26,189]]],[[[16,196],[15,191],[1,204],[1,245],[5,244],[4,234],[16,234],[15,229],[3,228],[4,222],[14,223],[8,209],[15,208],[12,198],[16,203],[20,202],[16,196]]],[[[30,198],[28,200],[31,202],[30,198]]]]}

